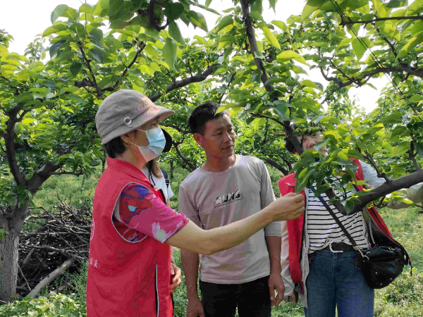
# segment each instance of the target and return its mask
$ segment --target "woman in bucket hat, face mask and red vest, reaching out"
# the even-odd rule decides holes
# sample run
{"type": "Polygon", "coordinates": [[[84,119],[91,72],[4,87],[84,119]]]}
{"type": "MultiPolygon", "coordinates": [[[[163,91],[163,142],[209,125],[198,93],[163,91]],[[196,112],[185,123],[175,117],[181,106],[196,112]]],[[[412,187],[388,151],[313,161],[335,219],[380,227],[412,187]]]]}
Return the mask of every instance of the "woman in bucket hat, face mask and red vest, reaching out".
{"type": "Polygon", "coordinates": [[[172,113],[128,89],[104,99],[97,112],[97,131],[109,158],[94,194],[88,317],[171,317],[171,246],[213,254],[304,211],[302,196],[289,194],[253,216],[202,230],[166,206],[141,169],[163,151],[159,121],[172,113]]]}

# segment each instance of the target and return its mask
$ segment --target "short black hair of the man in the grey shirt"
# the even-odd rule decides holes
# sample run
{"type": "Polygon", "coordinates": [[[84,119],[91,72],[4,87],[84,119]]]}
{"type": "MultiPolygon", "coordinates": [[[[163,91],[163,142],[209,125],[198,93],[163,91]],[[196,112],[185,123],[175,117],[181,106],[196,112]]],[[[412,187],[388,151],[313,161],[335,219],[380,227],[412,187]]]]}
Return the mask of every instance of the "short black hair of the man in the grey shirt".
{"type": "Polygon", "coordinates": [[[220,104],[212,101],[207,101],[197,106],[197,108],[191,112],[190,118],[188,118],[188,125],[190,126],[192,134],[200,133],[200,135],[202,135],[204,133],[204,126],[207,122],[216,120],[227,114],[226,111],[221,111],[216,114],[220,106],[220,104]]]}

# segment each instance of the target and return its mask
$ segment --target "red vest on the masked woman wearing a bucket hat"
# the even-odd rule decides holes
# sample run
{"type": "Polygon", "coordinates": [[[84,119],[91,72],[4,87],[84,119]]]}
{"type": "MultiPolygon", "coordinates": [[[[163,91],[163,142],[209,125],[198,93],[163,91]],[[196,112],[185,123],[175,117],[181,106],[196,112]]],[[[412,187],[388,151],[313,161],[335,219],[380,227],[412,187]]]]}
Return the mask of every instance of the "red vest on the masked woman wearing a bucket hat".
{"type": "Polygon", "coordinates": [[[163,199],[132,164],[109,158],[107,165],[94,194],[87,317],[171,317],[171,247],[152,237],[123,240],[112,223],[116,201],[129,183],[144,185],[163,199]]]}

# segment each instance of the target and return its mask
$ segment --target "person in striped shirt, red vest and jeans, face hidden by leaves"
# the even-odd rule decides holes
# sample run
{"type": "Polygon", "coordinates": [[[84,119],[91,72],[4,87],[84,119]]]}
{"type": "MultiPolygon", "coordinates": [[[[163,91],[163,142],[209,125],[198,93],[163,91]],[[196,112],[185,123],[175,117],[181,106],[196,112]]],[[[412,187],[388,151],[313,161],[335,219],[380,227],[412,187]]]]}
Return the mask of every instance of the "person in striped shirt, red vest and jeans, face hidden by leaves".
{"type": "MultiPolygon", "coordinates": [[[[322,135],[299,135],[305,150],[314,149],[314,145],[322,141],[322,135]]],[[[286,149],[295,151],[293,144],[287,139],[286,149]]],[[[326,148],[321,154],[328,155],[326,148]]],[[[357,179],[364,180],[369,186],[376,187],[385,182],[378,178],[376,171],[369,164],[355,160],[358,170],[357,179]]],[[[295,174],[287,175],[279,180],[281,194],[293,192],[295,174]]],[[[340,180],[331,176],[333,180],[340,180]]],[[[312,185],[316,188],[316,182],[312,185]]],[[[341,189],[340,189],[341,190],[341,189]]],[[[355,192],[355,189],[353,189],[355,192]]],[[[346,191],[348,197],[353,191],[346,191]]],[[[335,190],[338,194],[337,190],[335,190]]],[[[282,222],[281,267],[285,290],[285,301],[296,302],[298,294],[302,294],[302,306],[305,317],[335,317],[336,308],[339,317],[372,317],[374,311],[374,290],[367,285],[356,261],[358,254],[350,240],[333,219],[321,201],[314,197],[311,188],[304,189],[305,214],[299,220],[282,222]]],[[[422,183],[407,189],[408,198],[418,203],[423,199],[422,183]]],[[[381,223],[381,228],[388,228],[374,210],[367,210],[343,215],[333,204],[329,204],[326,194],[321,194],[329,208],[336,214],[348,233],[353,237],[360,249],[372,246],[372,234],[367,225],[371,218],[381,223]]],[[[399,201],[398,201],[399,202],[399,201]]],[[[405,204],[394,201],[390,208],[404,208],[405,204]]]]}

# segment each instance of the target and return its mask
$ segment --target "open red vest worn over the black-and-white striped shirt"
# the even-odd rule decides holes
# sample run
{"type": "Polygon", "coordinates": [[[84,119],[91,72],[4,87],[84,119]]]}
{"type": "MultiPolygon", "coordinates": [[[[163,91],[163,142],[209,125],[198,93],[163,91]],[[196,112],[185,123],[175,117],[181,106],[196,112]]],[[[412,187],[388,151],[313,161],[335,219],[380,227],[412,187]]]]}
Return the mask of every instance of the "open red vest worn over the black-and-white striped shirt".
{"type": "MultiPolygon", "coordinates": [[[[357,159],[351,159],[357,166],[358,169],[355,172],[355,177],[357,180],[363,180],[363,170],[360,164],[360,161],[357,159]]],[[[295,187],[295,173],[290,175],[286,175],[284,178],[279,180],[279,190],[281,191],[281,196],[285,196],[289,192],[294,192],[295,187]]],[[[360,191],[363,190],[362,186],[358,186],[360,191]]],[[[302,196],[305,197],[305,192],[302,190],[302,196]]],[[[381,218],[379,213],[376,211],[374,207],[368,208],[369,215],[373,218],[374,222],[376,223],[377,227],[384,235],[392,238],[391,232],[389,232],[388,227],[384,223],[384,220],[381,218]]],[[[293,279],[294,284],[300,282],[302,285],[302,273],[301,273],[301,266],[300,266],[300,259],[301,259],[301,246],[302,246],[302,228],[304,225],[304,213],[295,219],[295,220],[288,220],[286,222],[286,226],[288,228],[288,244],[289,244],[289,268],[291,273],[291,278],[293,279]]],[[[302,287],[304,290],[304,287],[302,287]]]]}

